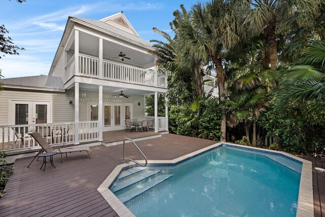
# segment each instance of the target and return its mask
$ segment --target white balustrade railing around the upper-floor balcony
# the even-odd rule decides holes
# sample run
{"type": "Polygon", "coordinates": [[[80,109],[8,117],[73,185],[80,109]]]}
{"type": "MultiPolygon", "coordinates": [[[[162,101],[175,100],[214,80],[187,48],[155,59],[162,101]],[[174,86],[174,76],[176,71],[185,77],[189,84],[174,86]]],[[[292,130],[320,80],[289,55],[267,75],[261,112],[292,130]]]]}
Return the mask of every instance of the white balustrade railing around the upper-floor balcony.
{"type": "Polygon", "coordinates": [[[66,81],[74,75],[114,80],[119,82],[142,84],[167,88],[167,75],[155,70],[126,65],[110,60],[100,61],[99,58],[79,54],[79,71],[73,55],[66,65],[66,81]]]}

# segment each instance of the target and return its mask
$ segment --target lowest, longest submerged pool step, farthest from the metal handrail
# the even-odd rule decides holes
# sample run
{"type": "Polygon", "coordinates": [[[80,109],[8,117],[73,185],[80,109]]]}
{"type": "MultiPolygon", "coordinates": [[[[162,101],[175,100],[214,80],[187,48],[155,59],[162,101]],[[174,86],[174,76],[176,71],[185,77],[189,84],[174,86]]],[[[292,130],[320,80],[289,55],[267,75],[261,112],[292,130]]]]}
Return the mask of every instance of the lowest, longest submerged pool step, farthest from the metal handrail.
{"type": "Polygon", "coordinates": [[[172,176],[172,174],[156,174],[155,176],[146,178],[145,180],[142,180],[141,182],[138,182],[114,194],[120,199],[122,203],[125,203],[155,187],[156,185],[164,182],[172,176]]]}

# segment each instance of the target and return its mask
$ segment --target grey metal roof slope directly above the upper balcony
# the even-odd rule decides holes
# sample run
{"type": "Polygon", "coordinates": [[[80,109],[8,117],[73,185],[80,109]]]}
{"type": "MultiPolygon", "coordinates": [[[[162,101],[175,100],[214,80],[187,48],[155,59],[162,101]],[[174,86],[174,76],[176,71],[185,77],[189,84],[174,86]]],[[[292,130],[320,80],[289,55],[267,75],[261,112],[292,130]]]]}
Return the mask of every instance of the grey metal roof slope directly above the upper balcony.
{"type": "MultiPolygon", "coordinates": [[[[123,15],[124,16],[124,15],[123,15]]],[[[101,30],[105,31],[105,33],[124,40],[126,42],[132,43],[132,44],[136,44],[136,45],[140,45],[141,47],[145,47],[148,49],[152,48],[152,45],[141,39],[139,36],[137,36],[136,34],[124,31],[116,26],[113,26],[111,24],[99,21],[99,20],[92,20],[92,19],[87,19],[87,18],[81,18],[81,17],[71,17],[73,22],[78,22],[81,21],[80,24],[83,24],[87,27],[95,27],[95,28],[100,28],[101,30]]]]}

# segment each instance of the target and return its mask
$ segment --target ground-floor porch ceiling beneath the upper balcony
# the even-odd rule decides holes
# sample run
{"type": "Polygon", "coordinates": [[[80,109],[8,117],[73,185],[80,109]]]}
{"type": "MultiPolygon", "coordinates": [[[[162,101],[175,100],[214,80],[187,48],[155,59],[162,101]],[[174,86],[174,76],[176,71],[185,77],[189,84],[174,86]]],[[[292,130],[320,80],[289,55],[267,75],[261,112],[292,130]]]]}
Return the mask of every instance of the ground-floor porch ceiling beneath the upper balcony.
{"type": "MultiPolygon", "coordinates": [[[[86,90],[86,91],[98,91],[99,87],[98,87],[98,85],[82,83],[79,85],[79,89],[86,90]]],[[[120,87],[103,86],[103,92],[118,94],[118,93],[120,93],[120,91],[123,91],[124,94],[142,95],[142,96],[154,94],[154,92],[145,91],[145,90],[135,90],[135,89],[120,88],[120,87]]]]}

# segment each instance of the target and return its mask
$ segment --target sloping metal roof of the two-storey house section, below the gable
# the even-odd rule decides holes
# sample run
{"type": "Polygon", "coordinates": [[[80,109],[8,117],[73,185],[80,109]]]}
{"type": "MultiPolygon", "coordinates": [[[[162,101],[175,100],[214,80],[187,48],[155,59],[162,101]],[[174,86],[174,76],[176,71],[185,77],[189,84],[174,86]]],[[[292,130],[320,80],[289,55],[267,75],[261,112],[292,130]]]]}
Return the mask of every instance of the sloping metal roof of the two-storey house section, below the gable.
{"type": "Polygon", "coordinates": [[[142,46],[146,46],[146,47],[149,47],[149,48],[152,47],[152,45],[149,42],[137,37],[134,34],[128,33],[126,31],[123,31],[122,29],[119,29],[119,28],[117,28],[115,26],[112,26],[112,25],[110,25],[108,23],[104,23],[104,22],[101,22],[99,20],[92,20],[92,19],[81,18],[81,17],[71,17],[71,18],[76,19],[76,20],[80,20],[80,21],[86,22],[87,24],[90,24],[90,25],[93,25],[95,27],[101,28],[101,29],[103,29],[105,31],[110,32],[113,35],[116,35],[117,37],[120,37],[123,40],[131,41],[131,42],[134,42],[136,44],[141,44],[142,46]]]}

